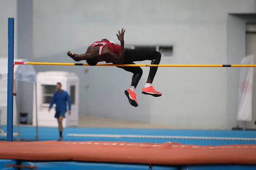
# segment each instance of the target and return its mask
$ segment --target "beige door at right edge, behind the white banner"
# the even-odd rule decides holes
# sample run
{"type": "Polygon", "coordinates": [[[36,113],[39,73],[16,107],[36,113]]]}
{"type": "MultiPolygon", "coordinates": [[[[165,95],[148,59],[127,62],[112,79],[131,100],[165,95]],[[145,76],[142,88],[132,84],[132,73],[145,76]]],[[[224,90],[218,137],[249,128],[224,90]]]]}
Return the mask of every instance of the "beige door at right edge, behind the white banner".
{"type": "MultiPolygon", "coordinates": [[[[256,64],[256,25],[247,25],[246,55],[254,55],[256,64]]],[[[253,116],[250,122],[246,122],[246,129],[256,129],[256,68],[253,69],[253,116]]]]}

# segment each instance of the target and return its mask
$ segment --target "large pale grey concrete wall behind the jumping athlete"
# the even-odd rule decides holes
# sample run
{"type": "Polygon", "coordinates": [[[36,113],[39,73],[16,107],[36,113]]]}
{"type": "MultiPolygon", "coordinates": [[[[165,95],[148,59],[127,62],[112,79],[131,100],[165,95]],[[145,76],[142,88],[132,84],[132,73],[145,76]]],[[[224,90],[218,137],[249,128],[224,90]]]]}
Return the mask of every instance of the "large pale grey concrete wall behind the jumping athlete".
{"type": "MultiPolygon", "coordinates": [[[[27,8],[18,3],[19,17],[23,18],[19,58],[33,56],[27,59],[38,62],[73,62],[67,51],[84,53],[88,45],[102,38],[118,42],[115,34],[124,27],[127,46],[174,45],[174,59],[163,58],[160,64],[233,64],[244,57],[245,47],[232,56],[235,47],[244,44],[245,22],[228,14],[256,11],[255,0],[37,0],[29,4],[27,8]]],[[[236,69],[159,68],[153,84],[163,96],[154,98],[140,92],[148,76],[148,68],[143,68],[137,88],[139,107],[133,108],[124,95],[132,74],[119,68],[35,68],[76,72],[81,79],[81,114],[179,128],[236,125],[237,101],[233,97],[237,94],[229,96],[237,93],[232,85],[239,74],[236,69]]]]}

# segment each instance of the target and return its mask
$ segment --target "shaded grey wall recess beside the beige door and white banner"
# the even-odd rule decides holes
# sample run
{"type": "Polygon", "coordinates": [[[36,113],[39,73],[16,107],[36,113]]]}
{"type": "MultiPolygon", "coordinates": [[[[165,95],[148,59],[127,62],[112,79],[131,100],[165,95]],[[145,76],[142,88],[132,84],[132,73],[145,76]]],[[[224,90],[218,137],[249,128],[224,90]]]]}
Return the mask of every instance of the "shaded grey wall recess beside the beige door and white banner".
{"type": "MultiPolygon", "coordinates": [[[[256,14],[230,14],[227,20],[227,63],[241,64],[246,55],[246,23],[256,23],[256,14]]],[[[234,127],[238,111],[240,68],[227,70],[227,125],[234,127]]]]}

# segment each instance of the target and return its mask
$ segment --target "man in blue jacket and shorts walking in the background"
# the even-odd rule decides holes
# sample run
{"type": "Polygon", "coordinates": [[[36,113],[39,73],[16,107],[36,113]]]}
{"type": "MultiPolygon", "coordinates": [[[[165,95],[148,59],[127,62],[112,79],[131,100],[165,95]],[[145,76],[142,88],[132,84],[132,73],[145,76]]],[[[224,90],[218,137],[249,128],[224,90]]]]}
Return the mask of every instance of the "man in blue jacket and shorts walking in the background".
{"type": "Polygon", "coordinates": [[[61,83],[58,82],[56,85],[56,91],[53,94],[53,97],[50,101],[50,106],[49,106],[49,111],[52,108],[53,104],[56,104],[56,113],[55,113],[55,118],[58,119],[58,130],[60,133],[59,136],[59,141],[63,140],[62,137],[62,131],[63,131],[63,126],[62,126],[62,120],[65,117],[65,113],[67,112],[67,103],[68,103],[68,113],[69,115],[71,114],[71,101],[70,101],[70,96],[68,95],[67,91],[64,91],[61,89],[61,83]]]}

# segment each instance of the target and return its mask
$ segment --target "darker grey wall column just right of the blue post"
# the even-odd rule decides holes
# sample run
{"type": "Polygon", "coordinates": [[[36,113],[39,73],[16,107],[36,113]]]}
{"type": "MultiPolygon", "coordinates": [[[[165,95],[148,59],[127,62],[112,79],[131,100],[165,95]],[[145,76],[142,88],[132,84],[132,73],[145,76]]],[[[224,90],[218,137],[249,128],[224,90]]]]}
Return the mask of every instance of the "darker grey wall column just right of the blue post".
{"type": "MultiPolygon", "coordinates": [[[[17,57],[33,61],[33,0],[17,1],[17,57]]],[[[33,84],[17,82],[18,113],[28,113],[32,124],[33,84]]]]}

